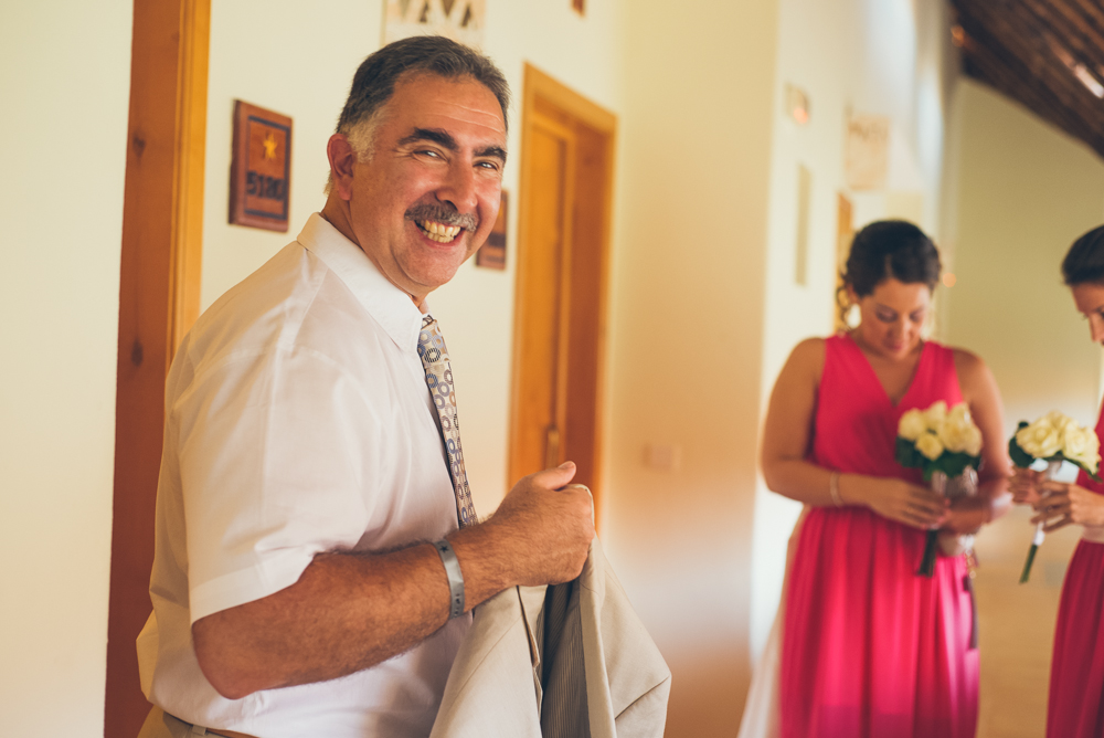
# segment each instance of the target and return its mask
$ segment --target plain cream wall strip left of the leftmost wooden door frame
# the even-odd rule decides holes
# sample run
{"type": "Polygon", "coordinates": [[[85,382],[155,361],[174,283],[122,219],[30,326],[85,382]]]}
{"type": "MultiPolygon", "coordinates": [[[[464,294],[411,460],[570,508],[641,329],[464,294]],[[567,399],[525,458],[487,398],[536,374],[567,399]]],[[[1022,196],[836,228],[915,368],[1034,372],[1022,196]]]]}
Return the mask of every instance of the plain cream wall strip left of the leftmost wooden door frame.
{"type": "Polygon", "coordinates": [[[127,0],[0,7],[9,736],[104,731],[130,28],[127,0]]]}

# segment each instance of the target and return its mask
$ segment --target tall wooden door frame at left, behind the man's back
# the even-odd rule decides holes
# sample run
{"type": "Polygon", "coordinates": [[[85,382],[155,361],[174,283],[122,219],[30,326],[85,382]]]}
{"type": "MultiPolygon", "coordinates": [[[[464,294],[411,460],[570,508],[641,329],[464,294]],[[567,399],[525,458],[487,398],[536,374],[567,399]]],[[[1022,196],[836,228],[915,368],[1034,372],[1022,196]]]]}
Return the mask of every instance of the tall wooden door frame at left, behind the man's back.
{"type": "Polygon", "coordinates": [[[211,0],[135,0],[127,126],[115,496],[104,735],[138,735],[149,704],[137,637],[150,612],[164,379],[199,315],[211,0]]]}

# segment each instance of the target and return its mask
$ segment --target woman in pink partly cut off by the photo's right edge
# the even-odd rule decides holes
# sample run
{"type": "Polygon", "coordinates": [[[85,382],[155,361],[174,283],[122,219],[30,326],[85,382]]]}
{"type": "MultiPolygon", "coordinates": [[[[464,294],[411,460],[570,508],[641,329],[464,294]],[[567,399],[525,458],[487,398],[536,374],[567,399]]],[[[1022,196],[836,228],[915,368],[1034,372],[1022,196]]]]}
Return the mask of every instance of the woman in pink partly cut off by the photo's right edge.
{"type": "MultiPolygon", "coordinates": [[[[1062,276],[1078,312],[1089,319],[1094,342],[1104,344],[1104,226],[1078,239],[1062,262],[1062,276]]],[[[1096,424],[1104,436],[1104,413],[1096,424]]],[[[1084,533],[1062,584],[1050,665],[1048,738],[1104,736],[1104,484],[1084,472],[1073,484],[1048,482],[1040,473],[1017,470],[1017,502],[1034,505],[1034,523],[1045,530],[1078,524],[1084,533]]]]}

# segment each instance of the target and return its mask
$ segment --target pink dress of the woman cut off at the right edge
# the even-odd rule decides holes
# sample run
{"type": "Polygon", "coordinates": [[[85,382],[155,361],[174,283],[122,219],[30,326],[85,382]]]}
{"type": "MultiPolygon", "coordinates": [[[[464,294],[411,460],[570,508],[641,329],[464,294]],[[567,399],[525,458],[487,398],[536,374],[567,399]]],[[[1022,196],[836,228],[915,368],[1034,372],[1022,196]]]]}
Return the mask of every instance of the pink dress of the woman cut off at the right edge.
{"type": "MultiPolygon", "coordinates": [[[[1104,437],[1104,410],[1096,422],[1104,437]]],[[[1104,494],[1104,484],[1082,472],[1078,484],[1104,494]]],[[[1104,736],[1104,544],[1082,539],[1062,584],[1050,664],[1047,738],[1104,736]]]]}

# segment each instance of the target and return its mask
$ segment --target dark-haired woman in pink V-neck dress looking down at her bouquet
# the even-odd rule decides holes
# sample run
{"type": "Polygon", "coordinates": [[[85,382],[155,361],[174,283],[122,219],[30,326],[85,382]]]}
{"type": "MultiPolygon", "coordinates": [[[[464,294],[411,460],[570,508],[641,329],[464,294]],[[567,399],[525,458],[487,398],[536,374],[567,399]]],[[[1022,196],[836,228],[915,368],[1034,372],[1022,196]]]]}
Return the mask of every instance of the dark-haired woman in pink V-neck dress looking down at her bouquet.
{"type": "Polygon", "coordinates": [[[925,530],[976,531],[1006,503],[1000,396],[976,356],[924,340],[935,245],[882,221],[851,244],[845,288],[861,323],[794,349],[771,396],[767,486],[805,504],[784,590],[783,738],[966,738],[978,655],[964,555],[916,574],[925,530]],[[978,495],[954,505],[894,460],[906,410],[965,401],[983,434],[978,495]]]}

